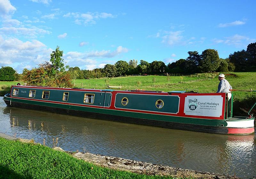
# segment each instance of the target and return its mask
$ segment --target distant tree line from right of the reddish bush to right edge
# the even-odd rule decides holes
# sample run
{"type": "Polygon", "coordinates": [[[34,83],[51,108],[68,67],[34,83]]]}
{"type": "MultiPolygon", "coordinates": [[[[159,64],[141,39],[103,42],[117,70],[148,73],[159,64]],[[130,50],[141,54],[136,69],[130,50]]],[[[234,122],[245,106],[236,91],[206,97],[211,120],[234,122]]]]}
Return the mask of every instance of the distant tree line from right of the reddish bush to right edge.
{"type": "Polygon", "coordinates": [[[199,54],[198,51],[189,51],[186,59],[179,59],[165,65],[163,61],[148,63],[145,60],[117,61],[114,65],[107,64],[104,68],[93,70],[80,70],[79,67],[71,67],[68,71],[77,71],[79,79],[117,77],[132,74],[193,74],[204,72],[239,72],[251,71],[256,66],[256,43],[250,43],[246,51],[236,51],[228,58],[220,58],[218,51],[206,49],[199,54]]]}

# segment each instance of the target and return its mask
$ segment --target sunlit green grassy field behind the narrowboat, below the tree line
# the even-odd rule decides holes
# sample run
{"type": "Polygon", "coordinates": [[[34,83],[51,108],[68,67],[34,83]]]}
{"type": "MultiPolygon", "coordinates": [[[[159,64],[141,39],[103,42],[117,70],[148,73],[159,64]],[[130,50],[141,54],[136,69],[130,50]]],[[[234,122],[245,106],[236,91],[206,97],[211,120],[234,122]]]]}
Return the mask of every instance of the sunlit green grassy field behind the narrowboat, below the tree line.
{"type": "MultiPolygon", "coordinates": [[[[255,72],[236,72],[232,73],[231,75],[226,75],[226,77],[233,89],[256,90],[255,72]]],[[[4,95],[9,92],[10,86],[17,83],[18,82],[0,82],[0,95],[4,95]]],[[[20,83],[23,84],[23,82],[20,83]]],[[[199,93],[214,93],[218,89],[218,84],[218,73],[203,73],[188,76],[169,76],[169,79],[167,76],[156,75],[126,76],[111,79],[77,79],[75,80],[74,87],[106,89],[108,88],[108,85],[110,85],[121,86],[121,89],[112,88],[115,90],[145,89],[168,92],[173,90],[198,89],[199,93]]],[[[256,101],[256,92],[233,91],[233,94],[235,102],[234,114],[245,115],[244,112],[248,111],[256,101]]]]}

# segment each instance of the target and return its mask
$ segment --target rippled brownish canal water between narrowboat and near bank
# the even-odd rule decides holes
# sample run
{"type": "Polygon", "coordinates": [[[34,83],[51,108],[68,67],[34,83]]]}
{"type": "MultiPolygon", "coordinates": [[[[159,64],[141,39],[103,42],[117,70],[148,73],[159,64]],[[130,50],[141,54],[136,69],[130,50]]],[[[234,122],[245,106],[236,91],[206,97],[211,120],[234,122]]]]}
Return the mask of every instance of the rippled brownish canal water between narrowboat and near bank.
{"type": "Polygon", "coordinates": [[[140,160],[178,168],[256,176],[256,136],[207,134],[7,107],[0,132],[66,151],[140,160]]]}

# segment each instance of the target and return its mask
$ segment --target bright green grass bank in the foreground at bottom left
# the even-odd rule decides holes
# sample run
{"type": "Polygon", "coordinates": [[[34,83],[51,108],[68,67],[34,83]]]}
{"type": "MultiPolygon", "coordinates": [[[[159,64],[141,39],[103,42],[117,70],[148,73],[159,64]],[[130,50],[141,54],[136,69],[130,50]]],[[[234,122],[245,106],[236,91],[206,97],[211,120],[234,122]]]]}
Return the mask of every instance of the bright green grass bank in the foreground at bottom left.
{"type": "Polygon", "coordinates": [[[0,178],[171,179],[173,177],[139,175],[99,167],[43,145],[25,144],[0,137],[0,178]]]}

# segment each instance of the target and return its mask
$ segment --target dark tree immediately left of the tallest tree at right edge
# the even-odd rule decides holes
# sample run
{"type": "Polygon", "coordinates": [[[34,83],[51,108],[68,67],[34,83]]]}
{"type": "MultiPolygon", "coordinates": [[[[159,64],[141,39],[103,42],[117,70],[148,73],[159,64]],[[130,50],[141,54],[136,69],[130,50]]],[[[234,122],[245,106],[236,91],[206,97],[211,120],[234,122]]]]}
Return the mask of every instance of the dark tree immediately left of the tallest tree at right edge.
{"type": "Polygon", "coordinates": [[[236,51],[229,55],[229,60],[236,66],[236,71],[246,71],[249,64],[249,54],[245,50],[236,51]]]}

